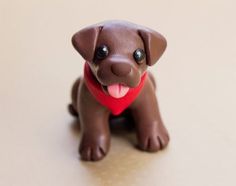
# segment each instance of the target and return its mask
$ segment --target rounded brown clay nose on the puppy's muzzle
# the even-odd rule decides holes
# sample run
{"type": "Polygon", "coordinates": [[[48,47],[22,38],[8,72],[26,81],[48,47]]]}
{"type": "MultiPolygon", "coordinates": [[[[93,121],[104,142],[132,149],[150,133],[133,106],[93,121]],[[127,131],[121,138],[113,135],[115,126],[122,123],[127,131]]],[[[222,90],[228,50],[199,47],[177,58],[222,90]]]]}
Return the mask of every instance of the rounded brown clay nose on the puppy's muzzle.
{"type": "Polygon", "coordinates": [[[111,65],[111,71],[117,76],[126,76],[131,71],[131,66],[127,63],[114,63],[111,65]]]}

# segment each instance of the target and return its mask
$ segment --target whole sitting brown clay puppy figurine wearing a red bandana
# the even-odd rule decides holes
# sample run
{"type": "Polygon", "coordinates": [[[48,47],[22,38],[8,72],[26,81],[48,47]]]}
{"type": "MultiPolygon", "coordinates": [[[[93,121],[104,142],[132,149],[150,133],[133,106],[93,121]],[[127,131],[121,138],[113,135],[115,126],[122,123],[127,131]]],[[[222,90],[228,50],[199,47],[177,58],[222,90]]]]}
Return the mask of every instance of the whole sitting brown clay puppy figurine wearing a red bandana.
{"type": "Polygon", "coordinates": [[[87,161],[102,159],[109,150],[108,118],[129,109],[138,147],[155,152],[169,142],[155,96],[155,81],[147,67],[166,48],[158,32],[124,21],[107,21],[75,33],[72,44],[86,60],[84,77],[72,87],[70,112],[79,116],[79,152],[87,161]]]}

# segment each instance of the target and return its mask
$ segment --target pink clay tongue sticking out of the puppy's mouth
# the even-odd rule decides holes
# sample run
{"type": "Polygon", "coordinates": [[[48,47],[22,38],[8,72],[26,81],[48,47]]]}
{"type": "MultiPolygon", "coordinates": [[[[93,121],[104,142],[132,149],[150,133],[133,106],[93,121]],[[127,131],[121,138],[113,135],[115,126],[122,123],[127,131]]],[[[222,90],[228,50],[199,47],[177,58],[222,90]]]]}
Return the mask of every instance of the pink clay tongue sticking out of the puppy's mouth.
{"type": "Polygon", "coordinates": [[[127,94],[129,87],[121,84],[113,84],[107,87],[108,93],[114,98],[121,98],[127,94]]]}

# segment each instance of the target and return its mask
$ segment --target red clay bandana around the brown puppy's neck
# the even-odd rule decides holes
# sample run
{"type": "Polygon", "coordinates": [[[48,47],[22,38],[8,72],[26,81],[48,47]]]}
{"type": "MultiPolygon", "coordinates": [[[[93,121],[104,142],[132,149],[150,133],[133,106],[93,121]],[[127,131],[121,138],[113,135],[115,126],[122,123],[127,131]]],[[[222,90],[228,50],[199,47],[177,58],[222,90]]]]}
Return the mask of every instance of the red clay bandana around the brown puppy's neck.
{"type": "Polygon", "coordinates": [[[135,100],[144,86],[146,77],[147,73],[145,72],[137,87],[130,88],[128,93],[122,98],[113,98],[103,92],[101,85],[95,80],[87,62],[84,65],[84,79],[90,93],[101,105],[107,107],[113,115],[122,113],[135,100]]]}

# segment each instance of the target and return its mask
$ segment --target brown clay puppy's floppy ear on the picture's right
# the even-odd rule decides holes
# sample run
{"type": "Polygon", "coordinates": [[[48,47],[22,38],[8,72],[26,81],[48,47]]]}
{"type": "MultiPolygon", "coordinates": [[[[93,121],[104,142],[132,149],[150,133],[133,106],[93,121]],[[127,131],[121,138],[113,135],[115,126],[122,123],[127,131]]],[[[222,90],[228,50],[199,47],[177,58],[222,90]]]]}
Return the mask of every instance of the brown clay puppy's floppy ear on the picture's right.
{"type": "Polygon", "coordinates": [[[139,29],[138,33],[144,43],[147,65],[154,65],[166,49],[166,39],[158,32],[148,28],[139,29]]]}

